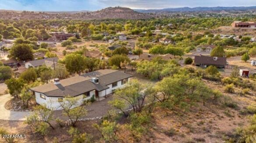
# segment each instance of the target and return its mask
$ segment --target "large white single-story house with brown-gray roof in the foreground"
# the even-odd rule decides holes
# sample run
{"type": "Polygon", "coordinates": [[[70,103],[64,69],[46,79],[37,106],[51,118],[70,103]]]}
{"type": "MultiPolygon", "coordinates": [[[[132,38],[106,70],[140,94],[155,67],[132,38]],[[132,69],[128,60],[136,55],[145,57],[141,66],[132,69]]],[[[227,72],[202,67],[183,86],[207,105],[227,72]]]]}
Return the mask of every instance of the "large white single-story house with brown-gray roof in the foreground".
{"type": "MultiPolygon", "coordinates": [[[[33,87],[30,90],[36,96],[36,102],[47,108],[60,110],[60,102],[67,96],[79,100],[80,106],[85,100],[94,96],[96,99],[106,98],[113,90],[124,87],[132,75],[117,70],[98,70],[84,75],[54,79],[53,83],[33,87]]],[[[100,108],[100,107],[99,107],[100,108]]]]}

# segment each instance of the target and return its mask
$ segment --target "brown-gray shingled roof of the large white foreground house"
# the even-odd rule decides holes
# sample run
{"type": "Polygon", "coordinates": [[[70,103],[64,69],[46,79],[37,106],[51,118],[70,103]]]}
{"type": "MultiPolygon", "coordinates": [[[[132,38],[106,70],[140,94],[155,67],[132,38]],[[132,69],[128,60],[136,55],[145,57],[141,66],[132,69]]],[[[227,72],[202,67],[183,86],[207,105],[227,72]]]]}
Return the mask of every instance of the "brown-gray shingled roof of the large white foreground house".
{"type": "Polygon", "coordinates": [[[50,83],[31,88],[31,90],[52,97],[64,97],[65,95],[75,97],[92,90],[103,91],[109,88],[107,85],[130,77],[132,75],[123,71],[105,69],[60,80],[60,84],[57,85],[50,83]],[[93,77],[99,78],[99,84],[91,82],[93,77]]]}

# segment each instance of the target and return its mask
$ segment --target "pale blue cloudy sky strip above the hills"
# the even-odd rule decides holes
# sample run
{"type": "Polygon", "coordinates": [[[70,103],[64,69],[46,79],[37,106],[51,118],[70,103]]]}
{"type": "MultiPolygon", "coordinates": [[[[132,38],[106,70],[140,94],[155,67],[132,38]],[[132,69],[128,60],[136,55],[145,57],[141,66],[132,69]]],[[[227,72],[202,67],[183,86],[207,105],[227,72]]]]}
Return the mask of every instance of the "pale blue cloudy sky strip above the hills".
{"type": "Polygon", "coordinates": [[[256,6],[256,0],[0,0],[2,10],[95,11],[116,6],[132,9],[239,7],[256,6]]]}

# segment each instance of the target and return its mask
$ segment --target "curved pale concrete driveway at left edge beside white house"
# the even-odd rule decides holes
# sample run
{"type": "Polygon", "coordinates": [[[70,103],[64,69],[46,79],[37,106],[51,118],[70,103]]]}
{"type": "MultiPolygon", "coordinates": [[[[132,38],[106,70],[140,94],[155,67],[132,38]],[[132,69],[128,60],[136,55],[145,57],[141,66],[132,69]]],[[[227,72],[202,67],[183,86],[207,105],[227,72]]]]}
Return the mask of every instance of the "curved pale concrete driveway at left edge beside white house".
{"type": "Polygon", "coordinates": [[[9,100],[11,100],[10,94],[0,96],[0,119],[12,121],[25,121],[26,116],[31,114],[31,112],[18,112],[5,109],[4,105],[9,100]]]}

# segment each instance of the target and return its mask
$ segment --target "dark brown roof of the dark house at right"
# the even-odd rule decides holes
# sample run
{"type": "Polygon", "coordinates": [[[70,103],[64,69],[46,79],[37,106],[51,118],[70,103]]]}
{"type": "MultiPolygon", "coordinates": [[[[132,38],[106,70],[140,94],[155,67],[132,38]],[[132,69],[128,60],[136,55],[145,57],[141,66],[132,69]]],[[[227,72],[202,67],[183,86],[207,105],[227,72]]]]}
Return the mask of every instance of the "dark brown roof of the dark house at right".
{"type": "Polygon", "coordinates": [[[227,65],[225,57],[217,57],[217,60],[214,61],[213,57],[203,55],[195,56],[195,63],[209,65],[227,65]]]}

